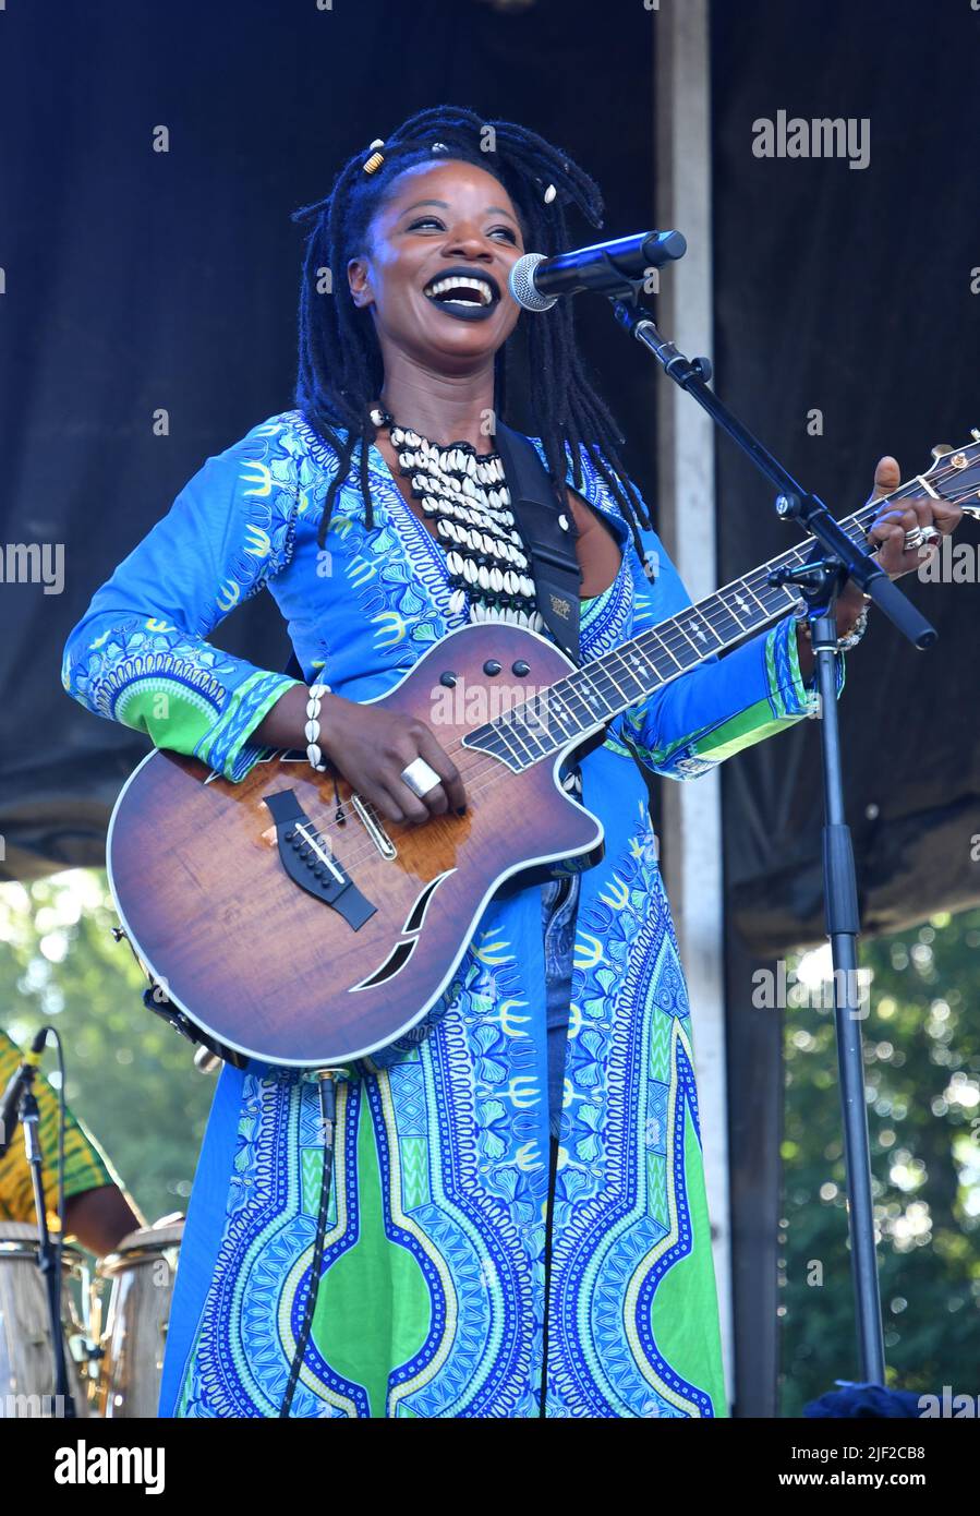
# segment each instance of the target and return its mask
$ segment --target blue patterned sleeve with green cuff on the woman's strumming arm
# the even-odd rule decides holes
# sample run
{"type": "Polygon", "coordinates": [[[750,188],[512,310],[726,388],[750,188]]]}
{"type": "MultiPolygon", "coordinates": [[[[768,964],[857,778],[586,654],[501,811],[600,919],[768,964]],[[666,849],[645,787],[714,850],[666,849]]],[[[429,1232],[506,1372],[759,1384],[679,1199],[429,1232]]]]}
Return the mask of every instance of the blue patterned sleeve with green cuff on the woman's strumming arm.
{"type": "Polygon", "coordinates": [[[123,559],[68,635],[62,684],[97,716],[241,781],[254,728],[297,679],[220,652],[208,635],[292,553],[297,464],[264,421],[209,458],[123,559]]]}

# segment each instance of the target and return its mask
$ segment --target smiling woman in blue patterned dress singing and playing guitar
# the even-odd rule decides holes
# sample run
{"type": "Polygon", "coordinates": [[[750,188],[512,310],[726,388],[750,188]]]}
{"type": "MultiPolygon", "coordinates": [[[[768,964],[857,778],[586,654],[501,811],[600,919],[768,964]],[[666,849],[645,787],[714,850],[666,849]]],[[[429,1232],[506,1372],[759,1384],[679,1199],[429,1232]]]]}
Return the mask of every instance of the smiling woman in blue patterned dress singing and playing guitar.
{"type": "MultiPolygon", "coordinates": [[[[542,632],[533,578],[501,546],[492,418],[507,418],[520,315],[509,270],[524,250],[571,246],[566,206],[601,226],[597,186],[560,150],[470,111],[423,111],[357,153],[297,212],[311,232],[295,409],[209,458],[97,591],[68,638],[65,688],[232,782],[297,749],[392,823],[460,810],[438,728],[364,702],[468,622],[542,632]],[[470,526],[447,506],[463,476],[470,526]],[[208,641],[262,587],[303,681],[208,641]],[[403,778],[418,758],[439,776],[421,797],[403,778]]],[[[571,302],[526,324],[535,444],[577,528],[588,661],[691,602],[585,376],[571,302]]],[[[877,491],[897,484],[883,459],[877,491]]],[[[938,502],[875,522],[889,573],[918,565],[904,532],[933,514],[951,529],[938,502]]],[[[862,609],[848,587],[842,638],[862,609]]],[[[495,896],[429,1016],[344,1070],[298,1354],[320,1092],[312,1072],[223,1069],[161,1414],[727,1414],[691,1008],[632,753],[695,778],[810,713],[810,675],[785,617],[616,719],[577,766],[601,861],[495,896]]]]}

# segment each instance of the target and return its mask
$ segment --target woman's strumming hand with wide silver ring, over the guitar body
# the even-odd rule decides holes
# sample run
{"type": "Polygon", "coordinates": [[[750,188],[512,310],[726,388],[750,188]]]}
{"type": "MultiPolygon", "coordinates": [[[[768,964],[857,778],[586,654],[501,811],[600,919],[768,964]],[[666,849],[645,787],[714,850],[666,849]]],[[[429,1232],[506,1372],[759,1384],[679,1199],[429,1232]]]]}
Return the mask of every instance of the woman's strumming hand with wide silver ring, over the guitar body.
{"type": "Polygon", "coordinates": [[[424,722],[374,705],[357,705],[339,694],[324,694],[320,705],[320,750],[348,784],[389,822],[420,823],[467,807],[467,791],[456,764],[424,722]],[[439,775],[421,799],[401,770],[415,758],[439,775]]]}

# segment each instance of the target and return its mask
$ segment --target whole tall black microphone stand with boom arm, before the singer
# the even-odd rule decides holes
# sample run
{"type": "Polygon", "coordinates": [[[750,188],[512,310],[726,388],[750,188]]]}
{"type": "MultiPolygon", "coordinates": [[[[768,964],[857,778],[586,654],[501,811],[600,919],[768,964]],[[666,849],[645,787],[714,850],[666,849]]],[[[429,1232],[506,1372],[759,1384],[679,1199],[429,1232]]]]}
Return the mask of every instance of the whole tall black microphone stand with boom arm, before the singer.
{"type": "Polygon", "coordinates": [[[874,1249],[874,1207],[871,1201],[871,1152],[868,1108],[860,1040],[857,998],[857,881],[850,828],[845,822],[841,734],[838,726],[836,659],[838,628],[835,606],[841,587],[850,578],[868,594],[903,637],[915,647],[930,647],[936,631],[904,597],[883,568],[838,526],[818,496],[807,493],[791,473],[742,426],[707,388],[712,370],[707,358],[686,358],[674,343],[660,335],[650,311],[632,294],[609,296],[616,321],[660,362],[663,371],[707,411],[715,424],[738,443],[756,468],[776,485],[777,515],[800,526],[822,546],[826,556],[795,570],[769,576],[772,584],[794,584],[807,606],[821,714],[821,756],[824,775],[824,901],[827,935],[833,960],[833,1007],[838,1041],[838,1070],[844,1105],[844,1151],[847,1163],[848,1229],[851,1273],[857,1322],[862,1378],[885,1384],[885,1343],[882,1301],[874,1249]],[[838,973],[842,969],[844,973],[838,973]]]}

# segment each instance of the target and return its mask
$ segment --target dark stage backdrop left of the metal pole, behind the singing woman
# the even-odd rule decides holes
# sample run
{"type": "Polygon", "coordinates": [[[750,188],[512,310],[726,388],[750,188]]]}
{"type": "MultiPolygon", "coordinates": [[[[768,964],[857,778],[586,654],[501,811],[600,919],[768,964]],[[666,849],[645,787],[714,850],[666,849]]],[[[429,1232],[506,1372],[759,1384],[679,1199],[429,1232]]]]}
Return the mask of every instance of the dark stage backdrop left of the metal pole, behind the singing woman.
{"type": "MultiPolygon", "coordinates": [[[[606,235],[644,227],[654,29],[629,0],[615,26],[582,0],[0,12],[3,541],[62,543],[65,561],[61,594],[2,587],[8,878],[103,861],[112,802],[147,744],[64,694],[64,641],[204,458],[292,405],[303,230],[291,212],[350,153],[450,103],[573,153],[603,186],[606,235]],[[153,152],[158,126],[168,153],[153,152]],[[167,437],[153,434],[158,409],[167,437]]],[[[576,221],[579,244],[595,241],[576,221]]],[[[654,376],[606,309],[580,320],[651,490],[654,376]]],[[[524,424],[521,396],[510,405],[524,424]]],[[[268,596],[215,641],[273,669],[289,650],[268,596]]]]}

